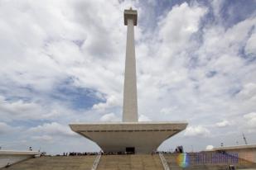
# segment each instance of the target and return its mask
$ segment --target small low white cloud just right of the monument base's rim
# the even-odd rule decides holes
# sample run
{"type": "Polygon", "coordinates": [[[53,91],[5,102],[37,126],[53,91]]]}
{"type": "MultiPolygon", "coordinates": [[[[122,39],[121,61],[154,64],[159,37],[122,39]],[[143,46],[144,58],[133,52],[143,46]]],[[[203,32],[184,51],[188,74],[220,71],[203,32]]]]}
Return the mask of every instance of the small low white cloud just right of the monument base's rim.
{"type": "Polygon", "coordinates": [[[185,130],[185,136],[209,136],[210,130],[201,125],[188,126],[185,130]]]}

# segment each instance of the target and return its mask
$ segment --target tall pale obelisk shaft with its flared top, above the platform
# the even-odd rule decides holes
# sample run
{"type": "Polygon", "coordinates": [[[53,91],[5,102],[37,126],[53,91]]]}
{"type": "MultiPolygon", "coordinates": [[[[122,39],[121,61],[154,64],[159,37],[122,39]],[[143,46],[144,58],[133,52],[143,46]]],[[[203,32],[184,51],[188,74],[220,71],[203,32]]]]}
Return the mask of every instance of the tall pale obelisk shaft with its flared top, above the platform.
{"type": "Polygon", "coordinates": [[[126,58],[123,89],[123,122],[138,121],[136,60],[134,26],[137,26],[137,11],[124,10],[124,25],[127,26],[126,58]]]}

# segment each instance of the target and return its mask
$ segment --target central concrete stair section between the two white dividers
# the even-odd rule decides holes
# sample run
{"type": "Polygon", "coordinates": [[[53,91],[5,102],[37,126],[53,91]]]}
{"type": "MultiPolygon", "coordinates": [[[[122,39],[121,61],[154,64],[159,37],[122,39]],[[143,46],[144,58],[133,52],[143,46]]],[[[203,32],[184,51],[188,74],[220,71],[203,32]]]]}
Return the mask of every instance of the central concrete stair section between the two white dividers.
{"type": "Polygon", "coordinates": [[[97,170],[163,170],[157,154],[103,155],[97,170]]]}

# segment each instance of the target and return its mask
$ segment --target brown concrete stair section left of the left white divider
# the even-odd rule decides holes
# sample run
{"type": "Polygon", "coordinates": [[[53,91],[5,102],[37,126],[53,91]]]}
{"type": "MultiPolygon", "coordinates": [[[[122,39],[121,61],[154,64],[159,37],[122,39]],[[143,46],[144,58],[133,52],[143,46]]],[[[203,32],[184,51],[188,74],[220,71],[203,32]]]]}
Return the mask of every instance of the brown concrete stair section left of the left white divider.
{"type": "Polygon", "coordinates": [[[43,156],[30,158],[1,170],[91,170],[96,156],[43,156]]]}

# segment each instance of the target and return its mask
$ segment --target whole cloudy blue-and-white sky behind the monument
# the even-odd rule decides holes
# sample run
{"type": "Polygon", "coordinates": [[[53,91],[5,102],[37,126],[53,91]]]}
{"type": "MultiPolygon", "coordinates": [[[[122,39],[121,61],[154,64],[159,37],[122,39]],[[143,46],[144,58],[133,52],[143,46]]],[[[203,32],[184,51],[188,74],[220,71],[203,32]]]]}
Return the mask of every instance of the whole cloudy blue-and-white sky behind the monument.
{"type": "Polygon", "coordinates": [[[139,121],[186,120],[158,149],[256,144],[256,1],[0,1],[0,147],[99,147],[75,122],[121,121],[126,26],[139,121]]]}

